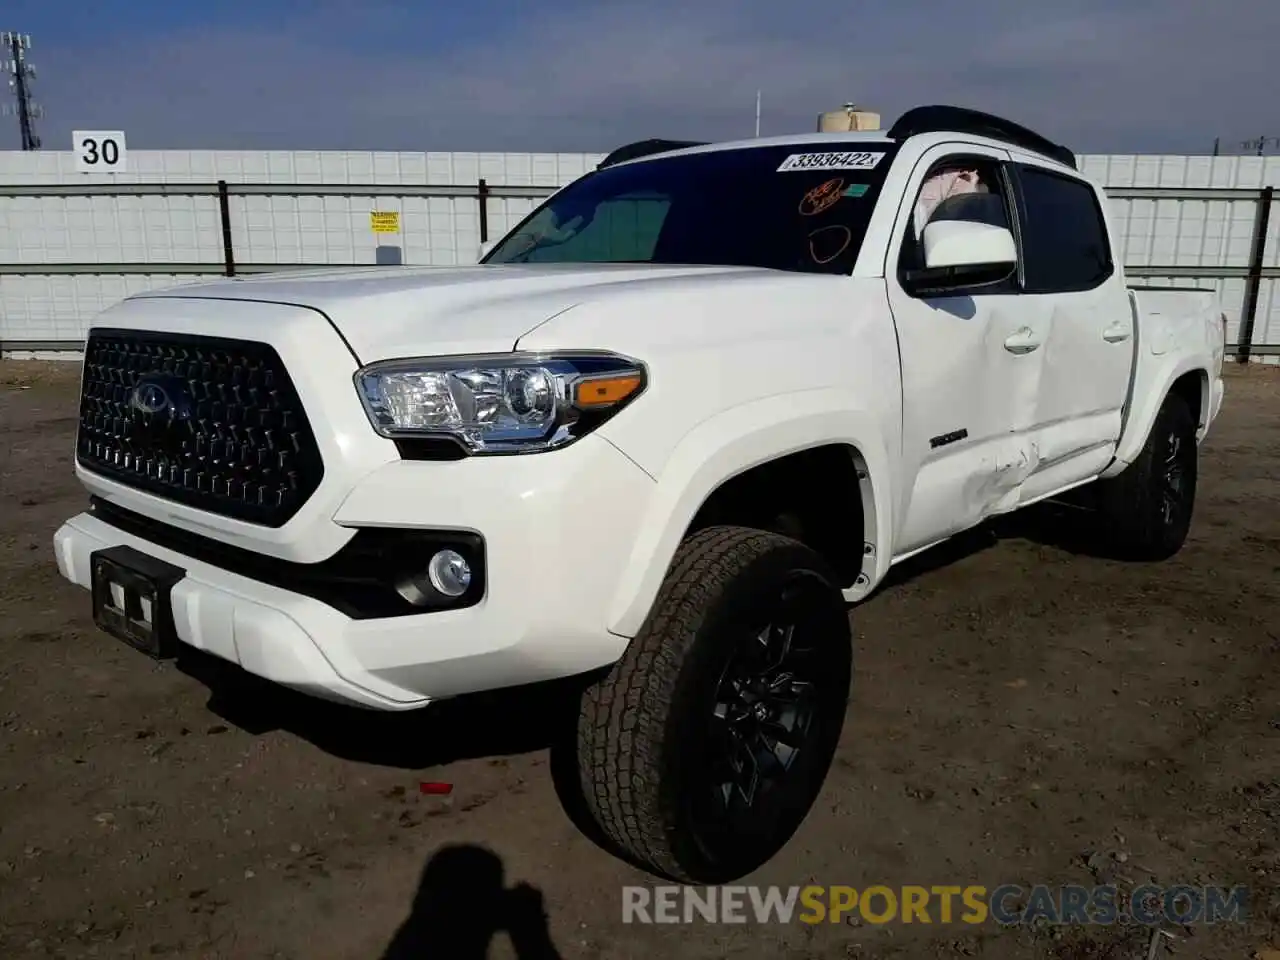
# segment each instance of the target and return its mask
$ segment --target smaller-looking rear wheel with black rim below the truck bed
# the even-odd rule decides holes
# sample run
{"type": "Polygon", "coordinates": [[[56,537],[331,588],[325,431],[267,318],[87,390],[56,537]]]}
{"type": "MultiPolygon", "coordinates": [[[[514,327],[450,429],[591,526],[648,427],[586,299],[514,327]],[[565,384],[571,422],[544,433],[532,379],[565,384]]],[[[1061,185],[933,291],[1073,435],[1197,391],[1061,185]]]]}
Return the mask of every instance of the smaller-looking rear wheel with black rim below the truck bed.
{"type": "Polygon", "coordinates": [[[1097,485],[1100,535],[1111,553],[1162,561],[1183,548],[1196,506],[1197,461],[1196,420],[1187,401],[1169,394],[1138,458],[1097,485]],[[1170,466],[1180,471],[1176,494],[1170,466]]]}

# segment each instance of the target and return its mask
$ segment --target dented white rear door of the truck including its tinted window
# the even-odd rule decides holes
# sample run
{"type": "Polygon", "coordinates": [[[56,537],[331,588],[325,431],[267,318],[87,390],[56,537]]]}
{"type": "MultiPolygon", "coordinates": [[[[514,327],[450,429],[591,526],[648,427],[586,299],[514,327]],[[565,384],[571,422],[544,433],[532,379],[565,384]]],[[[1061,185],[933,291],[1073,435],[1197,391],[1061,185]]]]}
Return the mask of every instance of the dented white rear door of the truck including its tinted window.
{"type": "Polygon", "coordinates": [[[1096,476],[1111,460],[1134,356],[1134,317],[1111,250],[1105,198],[1088,182],[1014,152],[1021,303],[1046,333],[1020,500],[1096,476]]]}

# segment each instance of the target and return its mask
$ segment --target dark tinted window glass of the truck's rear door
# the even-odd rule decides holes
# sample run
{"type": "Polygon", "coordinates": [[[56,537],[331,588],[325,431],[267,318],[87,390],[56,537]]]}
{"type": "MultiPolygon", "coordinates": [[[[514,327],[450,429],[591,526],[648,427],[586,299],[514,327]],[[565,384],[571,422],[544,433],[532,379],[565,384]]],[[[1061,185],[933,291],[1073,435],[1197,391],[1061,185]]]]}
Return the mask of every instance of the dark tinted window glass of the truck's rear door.
{"type": "Polygon", "coordinates": [[[1018,168],[1028,293],[1093,289],[1114,271],[1097,195],[1080,180],[1018,168]]]}

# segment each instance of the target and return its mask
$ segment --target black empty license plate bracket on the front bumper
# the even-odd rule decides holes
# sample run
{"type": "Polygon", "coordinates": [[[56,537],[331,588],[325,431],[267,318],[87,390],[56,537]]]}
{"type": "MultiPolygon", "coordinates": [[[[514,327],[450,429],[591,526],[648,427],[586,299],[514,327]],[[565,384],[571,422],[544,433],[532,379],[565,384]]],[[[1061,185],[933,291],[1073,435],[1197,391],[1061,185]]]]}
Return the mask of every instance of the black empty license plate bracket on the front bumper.
{"type": "Polygon", "coordinates": [[[163,660],[178,653],[170,594],[187,571],[132,547],[90,554],[93,622],[136,650],[163,660]]]}

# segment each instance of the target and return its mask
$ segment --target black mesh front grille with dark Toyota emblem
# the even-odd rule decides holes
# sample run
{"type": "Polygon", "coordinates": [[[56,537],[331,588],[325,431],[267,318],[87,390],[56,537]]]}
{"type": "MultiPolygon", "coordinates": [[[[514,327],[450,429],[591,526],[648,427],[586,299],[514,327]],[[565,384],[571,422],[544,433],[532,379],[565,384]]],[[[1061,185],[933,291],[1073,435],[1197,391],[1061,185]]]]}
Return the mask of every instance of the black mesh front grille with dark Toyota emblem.
{"type": "Polygon", "coordinates": [[[91,332],[76,453],[111,480],[273,527],[324,476],[279,355],[212,337],[91,332]]]}

